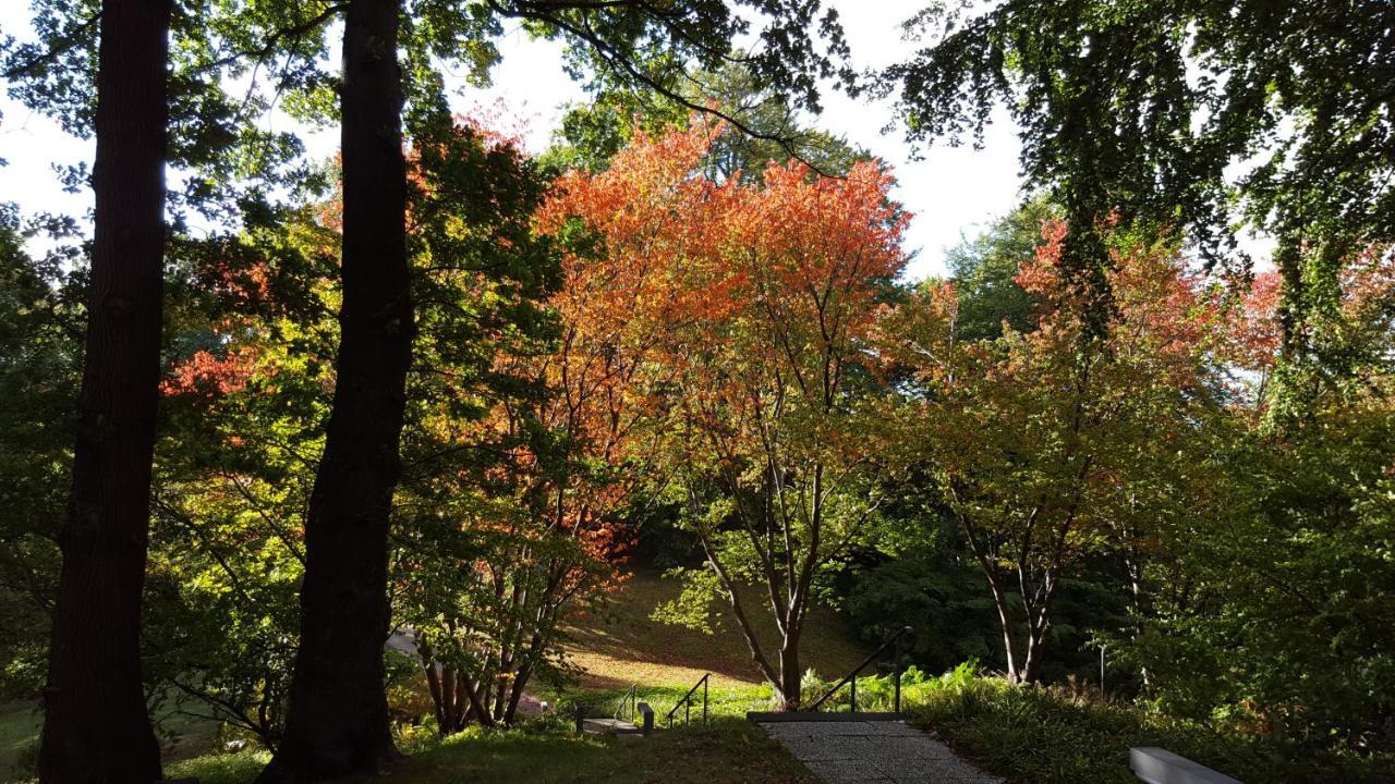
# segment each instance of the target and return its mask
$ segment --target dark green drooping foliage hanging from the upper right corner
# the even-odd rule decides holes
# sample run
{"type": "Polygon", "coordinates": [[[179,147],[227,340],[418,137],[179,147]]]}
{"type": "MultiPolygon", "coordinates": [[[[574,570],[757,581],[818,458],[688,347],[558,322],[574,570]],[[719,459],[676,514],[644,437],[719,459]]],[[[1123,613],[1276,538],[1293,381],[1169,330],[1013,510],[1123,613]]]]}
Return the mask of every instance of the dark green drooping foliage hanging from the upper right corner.
{"type": "Polygon", "coordinates": [[[1283,360],[1300,377],[1278,381],[1304,385],[1310,317],[1356,254],[1395,239],[1388,4],[944,3],[907,27],[928,46],[880,86],[898,93],[908,135],[981,140],[1006,106],[1028,184],[1073,227],[1063,258],[1096,293],[1096,318],[1099,222],[1187,230],[1208,264],[1246,261],[1242,223],[1272,234],[1283,360]]]}

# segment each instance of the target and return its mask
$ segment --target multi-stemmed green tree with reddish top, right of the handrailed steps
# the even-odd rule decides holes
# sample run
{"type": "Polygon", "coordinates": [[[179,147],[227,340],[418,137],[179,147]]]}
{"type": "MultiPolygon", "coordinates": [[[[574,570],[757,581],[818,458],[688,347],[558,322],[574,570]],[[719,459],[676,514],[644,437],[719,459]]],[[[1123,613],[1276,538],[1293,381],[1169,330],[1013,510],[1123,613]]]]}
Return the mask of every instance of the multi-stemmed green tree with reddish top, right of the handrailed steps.
{"type": "Polygon", "coordinates": [[[1028,331],[958,339],[953,285],[889,311],[877,343],[912,371],[891,446],[932,472],[988,579],[1013,681],[1038,678],[1062,579],[1091,552],[1151,541],[1187,508],[1214,308],[1166,244],[1123,241],[1116,315],[1095,338],[1089,293],[1060,268],[1064,223],[1017,282],[1028,331]]]}

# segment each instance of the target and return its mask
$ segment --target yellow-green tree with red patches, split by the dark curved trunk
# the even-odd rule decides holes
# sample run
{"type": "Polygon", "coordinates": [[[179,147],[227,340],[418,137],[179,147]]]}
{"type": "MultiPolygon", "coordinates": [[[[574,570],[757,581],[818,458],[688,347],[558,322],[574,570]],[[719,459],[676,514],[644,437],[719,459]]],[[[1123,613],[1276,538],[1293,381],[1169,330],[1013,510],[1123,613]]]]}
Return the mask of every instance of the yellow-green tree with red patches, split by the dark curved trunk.
{"type": "MultiPolygon", "coordinates": [[[[407,247],[423,329],[389,540],[398,624],[417,617],[409,601],[421,589],[463,593],[428,583],[456,564],[437,512],[458,502],[451,492],[478,495],[472,481],[497,460],[494,444],[455,437],[520,393],[523,382],[495,372],[492,357],[547,333],[537,300],[557,283],[550,241],[531,227],[547,177],[515,146],[448,114],[416,128],[407,247]]],[[[173,248],[180,276],[174,360],[162,382],[170,416],[158,452],[148,661],[184,710],[271,749],[285,735],[301,532],[336,379],[328,357],[340,333],[342,226],[342,202],[329,199],[173,248]]]]}

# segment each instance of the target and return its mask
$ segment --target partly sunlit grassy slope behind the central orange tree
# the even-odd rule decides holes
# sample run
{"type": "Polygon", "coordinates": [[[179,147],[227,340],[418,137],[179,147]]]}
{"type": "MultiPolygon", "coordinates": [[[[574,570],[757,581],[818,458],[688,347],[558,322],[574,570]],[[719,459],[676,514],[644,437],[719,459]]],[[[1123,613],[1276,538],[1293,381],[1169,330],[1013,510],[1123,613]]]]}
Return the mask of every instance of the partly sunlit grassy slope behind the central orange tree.
{"type": "MultiPolygon", "coordinates": [[[[745,638],[731,619],[731,608],[720,607],[714,633],[704,635],[650,621],[654,607],[678,596],[677,580],[640,571],[611,597],[610,607],[579,619],[566,633],[572,638],[569,658],[586,670],[580,684],[590,689],[640,686],[689,686],[703,672],[713,674],[713,686],[731,688],[760,684],[745,638]]],[[[767,656],[776,650],[776,626],[756,591],[746,596],[746,614],[762,635],[767,656]]],[[[866,650],[852,639],[841,619],[816,608],[801,639],[801,668],[813,668],[824,678],[837,678],[855,667],[866,650]]]]}

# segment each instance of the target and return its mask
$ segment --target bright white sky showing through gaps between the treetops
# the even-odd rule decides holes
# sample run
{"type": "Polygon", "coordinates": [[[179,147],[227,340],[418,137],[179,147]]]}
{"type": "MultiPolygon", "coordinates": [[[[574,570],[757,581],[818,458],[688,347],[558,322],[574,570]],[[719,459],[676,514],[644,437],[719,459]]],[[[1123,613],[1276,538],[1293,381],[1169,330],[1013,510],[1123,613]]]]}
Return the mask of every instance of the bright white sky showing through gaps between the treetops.
{"type": "MultiPolygon", "coordinates": [[[[901,40],[900,22],[922,8],[926,0],[827,0],[838,8],[858,70],[880,67],[904,59],[914,46],[901,40]]],[[[31,38],[27,0],[0,0],[0,31],[21,39],[31,38]]],[[[499,42],[502,63],[494,70],[494,86],[466,89],[459,109],[491,105],[497,99],[509,112],[527,120],[527,145],[541,151],[561,119],[561,106],[585,96],[561,67],[561,47],[530,40],[522,32],[509,32],[499,42]]],[[[943,251],[972,234],[988,220],[1010,211],[1020,199],[1016,128],[999,116],[989,128],[985,146],[950,148],[936,145],[921,151],[921,160],[910,160],[911,149],[900,130],[882,134],[896,120],[886,102],[857,102],[845,95],[824,91],[824,112],[815,124],[870,149],[889,163],[897,176],[898,198],[914,213],[905,247],[915,252],[908,276],[912,279],[944,272],[943,251]]],[[[50,211],[84,215],[92,204],[91,191],[64,194],[53,165],[91,162],[91,141],[64,134],[57,124],[28,112],[0,95],[0,201],[18,202],[27,213],[50,211]]],[[[329,155],[335,148],[332,133],[314,134],[308,148],[315,155],[329,155]]]]}

